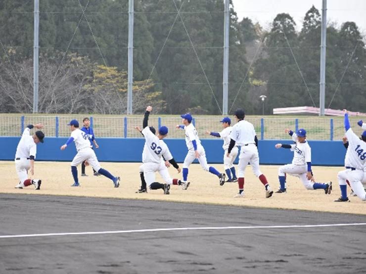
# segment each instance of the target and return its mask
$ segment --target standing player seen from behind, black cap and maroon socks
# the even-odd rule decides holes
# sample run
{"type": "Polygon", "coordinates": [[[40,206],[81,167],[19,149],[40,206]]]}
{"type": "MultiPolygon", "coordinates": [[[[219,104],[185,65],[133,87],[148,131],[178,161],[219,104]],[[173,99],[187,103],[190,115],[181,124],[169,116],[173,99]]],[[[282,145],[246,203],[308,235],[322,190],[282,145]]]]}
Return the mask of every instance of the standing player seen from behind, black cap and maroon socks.
{"type": "Polygon", "coordinates": [[[237,109],[234,113],[237,123],[232,127],[230,133],[230,143],[227,157],[232,153],[235,144],[240,146],[240,155],[238,163],[238,186],[239,192],[234,196],[235,198],[244,197],[244,173],[245,168],[250,163],[253,173],[263,183],[266,189],[266,198],[273,194],[266,176],[259,169],[259,155],[258,155],[258,138],[254,127],[251,123],[244,120],[245,112],[243,109],[237,109]]]}

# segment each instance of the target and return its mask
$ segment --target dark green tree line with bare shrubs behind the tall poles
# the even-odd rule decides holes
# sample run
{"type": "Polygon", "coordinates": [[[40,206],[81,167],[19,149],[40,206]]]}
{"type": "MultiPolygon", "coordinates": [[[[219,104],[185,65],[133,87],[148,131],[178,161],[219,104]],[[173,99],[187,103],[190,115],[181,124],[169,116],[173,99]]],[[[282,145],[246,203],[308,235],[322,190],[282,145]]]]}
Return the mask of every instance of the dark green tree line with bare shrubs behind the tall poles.
{"type": "MultiPolygon", "coordinates": [[[[222,0],[135,0],[134,112],[220,114],[222,0]],[[179,11],[179,12],[178,12],[179,11]]],[[[230,3],[229,109],[266,114],[319,106],[320,12],[299,32],[290,14],[272,29],[239,20],[230,3]]],[[[33,1],[0,2],[0,106],[33,107],[33,1]]],[[[40,112],[126,113],[128,0],[40,1],[40,112]]],[[[363,111],[366,48],[358,26],[327,26],[325,107],[363,111]],[[347,68],[347,69],[346,69],[347,68]]]]}

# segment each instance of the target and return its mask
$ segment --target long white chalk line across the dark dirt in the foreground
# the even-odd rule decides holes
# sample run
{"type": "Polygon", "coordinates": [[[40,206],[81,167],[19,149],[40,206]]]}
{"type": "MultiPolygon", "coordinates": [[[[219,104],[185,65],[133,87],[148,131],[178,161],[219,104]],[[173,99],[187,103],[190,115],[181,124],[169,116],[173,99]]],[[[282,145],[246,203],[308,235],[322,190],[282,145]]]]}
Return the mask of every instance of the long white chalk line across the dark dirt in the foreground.
{"type": "Polygon", "coordinates": [[[349,227],[349,226],[366,226],[366,223],[327,224],[327,225],[293,225],[293,226],[254,226],[254,227],[151,228],[151,229],[114,230],[114,231],[87,231],[87,232],[64,232],[64,233],[44,233],[44,234],[0,235],[0,238],[4,239],[4,238],[46,237],[46,236],[69,236],[69,235],[123,234],[123,233],[184,231],[184,230],[224,230],[224,229],[259,229],[259,228],[326,228],[326,227],[349,227]]]}

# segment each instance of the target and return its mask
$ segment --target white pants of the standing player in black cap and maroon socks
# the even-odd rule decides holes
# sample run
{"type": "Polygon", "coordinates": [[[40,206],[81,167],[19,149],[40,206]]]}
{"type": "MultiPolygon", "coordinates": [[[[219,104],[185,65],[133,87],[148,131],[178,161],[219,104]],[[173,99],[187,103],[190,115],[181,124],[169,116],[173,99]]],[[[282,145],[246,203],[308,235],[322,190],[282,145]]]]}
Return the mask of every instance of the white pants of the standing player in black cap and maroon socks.
{"type": "Polygon", "coordinates": [[[244,177],[245,168],[248,163],[252,166],[253,173],[255,176],[259,177],[262,175],[259,169],[259,155],[256,145],[248,144],[242,145],[240,148],[239,163],[238,163],[238,177],[244,177]]]}

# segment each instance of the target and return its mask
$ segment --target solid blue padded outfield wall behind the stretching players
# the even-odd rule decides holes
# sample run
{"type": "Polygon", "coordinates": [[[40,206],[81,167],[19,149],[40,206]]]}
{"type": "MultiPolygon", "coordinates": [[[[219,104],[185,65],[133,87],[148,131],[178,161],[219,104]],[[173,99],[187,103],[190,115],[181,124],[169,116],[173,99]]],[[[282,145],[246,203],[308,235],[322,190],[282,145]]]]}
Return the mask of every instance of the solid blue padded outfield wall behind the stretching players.
{"type": "MultiPolygon", "coordinates": [[[[14,160],[20,137],[0,137],[0,160],[14,160]]],[[[71,161],[76,154],[75,144],[61,151],[60,146],[67,138],[48,137],[45,143],[37,146],[38,161],[71,161]]],[[[182,163],[187,153],[184,139],[164,139],[174,158],[182,163]]],[[[143,138],[98,138],[99,149],[95,149],[102,162],[141,162],[143,138]]],[[[224,151],[221,139],[202,139],[209,163],[223,163],[224,151]]],[[[276,149],[276,143],[291,144],[291,140],[259,140],[261,164],[280,165],[292,161],[293,152],[289,149],[276,149]]],[[[343,166],[346,149],[342,141],[309,141],[312,147],[312,163],[321,166],[343,166]]],[[[235,160],[237,163],[238,159],[235,160]]]]}

